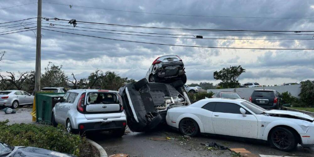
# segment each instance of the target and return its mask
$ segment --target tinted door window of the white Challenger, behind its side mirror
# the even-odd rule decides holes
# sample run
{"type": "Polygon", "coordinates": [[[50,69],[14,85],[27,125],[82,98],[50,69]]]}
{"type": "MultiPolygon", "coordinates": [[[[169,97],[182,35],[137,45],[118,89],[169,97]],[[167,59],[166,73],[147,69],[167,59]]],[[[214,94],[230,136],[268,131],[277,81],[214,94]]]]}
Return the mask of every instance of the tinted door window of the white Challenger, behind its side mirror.
{"type": "Polygon", "coordinates": [[[241,114],[240,112],[241,106],[233,103],[227,102],[217,102],[215,106],[215,112],[222,112],[222,113],[235,113],[241,114]]]}

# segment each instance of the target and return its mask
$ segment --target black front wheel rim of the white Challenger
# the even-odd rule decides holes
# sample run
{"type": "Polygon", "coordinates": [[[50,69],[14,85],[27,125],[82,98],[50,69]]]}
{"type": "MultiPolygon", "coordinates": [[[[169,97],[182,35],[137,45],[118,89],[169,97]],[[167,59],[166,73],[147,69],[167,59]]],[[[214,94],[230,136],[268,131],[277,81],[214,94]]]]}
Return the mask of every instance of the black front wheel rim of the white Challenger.
{"type": "Polygon", "coordinates": [[[280,149],[287,149],[291,145],[291,139],[285,131],[275,131],[272,135],[273,144],[280,149]]]}

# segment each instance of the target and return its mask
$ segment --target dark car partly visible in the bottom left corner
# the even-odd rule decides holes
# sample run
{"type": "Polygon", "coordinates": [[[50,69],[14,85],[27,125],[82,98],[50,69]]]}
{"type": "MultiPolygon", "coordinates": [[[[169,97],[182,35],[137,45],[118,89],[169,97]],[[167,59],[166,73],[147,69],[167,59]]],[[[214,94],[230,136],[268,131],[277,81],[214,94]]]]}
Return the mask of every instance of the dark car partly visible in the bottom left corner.
{"type": "Polygon", "coordinates": [[[8,144],[0,142],[0,156],[23,156],[23,157],[74,157],[70,154],[64,154],[48,149],[25,147],[25,146],[9,146],[8,144]]]}

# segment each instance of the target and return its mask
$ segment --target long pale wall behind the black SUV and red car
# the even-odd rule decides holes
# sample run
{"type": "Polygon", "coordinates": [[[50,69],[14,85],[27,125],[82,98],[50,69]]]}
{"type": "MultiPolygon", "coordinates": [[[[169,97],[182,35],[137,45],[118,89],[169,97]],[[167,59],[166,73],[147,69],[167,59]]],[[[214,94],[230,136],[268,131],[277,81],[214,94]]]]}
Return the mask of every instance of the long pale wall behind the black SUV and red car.
{"type": "Polygon", "coordinates": [[[288,85],[288,86],[270,86],[270,87],[253,87],[253,88],[228,88],[228,89],[207,89],[207,93],[210,91],[216,93],[219,91],[224,92],[236,92],[241,97],[244,97],[244,99],[249,100],[249,97],[253,93],[255,89],[274,89],[277,90],[279,93],[282,92],[290,92],[292,96],[295,96],[297,98],[300,98],[299,94],[301,92],[301,85],[288,85]]]}

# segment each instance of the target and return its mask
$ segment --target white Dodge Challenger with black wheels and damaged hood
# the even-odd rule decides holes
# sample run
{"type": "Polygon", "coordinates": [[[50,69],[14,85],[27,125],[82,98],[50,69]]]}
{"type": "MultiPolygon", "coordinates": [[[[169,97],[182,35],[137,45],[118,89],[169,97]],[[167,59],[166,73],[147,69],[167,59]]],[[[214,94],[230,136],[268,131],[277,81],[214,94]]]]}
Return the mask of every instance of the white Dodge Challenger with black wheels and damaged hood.
{"type": "Polygon", "coordinates": [[[290,151],[300,143],[314,147],[314,118],[300,112],[267,111],[243,99],[203,99],[167,111],[167,124],[188,136],[218,134],[268,141],[290,151]]]}

